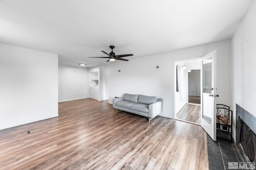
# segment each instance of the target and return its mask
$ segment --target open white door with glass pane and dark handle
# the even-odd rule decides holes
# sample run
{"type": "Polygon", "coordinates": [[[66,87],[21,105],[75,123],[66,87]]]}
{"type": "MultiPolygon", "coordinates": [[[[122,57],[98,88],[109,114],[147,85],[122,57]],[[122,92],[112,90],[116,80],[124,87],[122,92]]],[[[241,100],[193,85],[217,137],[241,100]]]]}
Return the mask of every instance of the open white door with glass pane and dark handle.
{"type": "Polygon", "coordinates": [[[201,126],[216,140],[216,50],[201,58],[201,126]]]}

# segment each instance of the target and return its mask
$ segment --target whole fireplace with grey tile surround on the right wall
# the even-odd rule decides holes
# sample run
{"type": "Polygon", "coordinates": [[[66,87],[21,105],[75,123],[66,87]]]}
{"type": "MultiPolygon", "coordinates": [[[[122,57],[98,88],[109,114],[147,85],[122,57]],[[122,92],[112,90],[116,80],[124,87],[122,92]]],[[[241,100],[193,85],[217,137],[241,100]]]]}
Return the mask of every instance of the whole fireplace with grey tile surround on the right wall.
{"type": "Polygon", "coordinates": [[[256,117],[236,104],[236,146],[244,161],[256,162],[256,117]]]}

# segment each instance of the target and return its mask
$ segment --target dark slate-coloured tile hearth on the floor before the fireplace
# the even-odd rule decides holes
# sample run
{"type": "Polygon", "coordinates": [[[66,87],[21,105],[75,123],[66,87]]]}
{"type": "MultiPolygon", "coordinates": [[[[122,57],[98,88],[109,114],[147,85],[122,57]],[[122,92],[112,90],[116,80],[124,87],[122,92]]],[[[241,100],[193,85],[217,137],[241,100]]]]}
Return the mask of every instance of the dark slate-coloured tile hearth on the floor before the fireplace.
{"type": "Polygon", "coordinates": [[[244,162],[234,143],[207,135],[209,170],[228,170],[228,162],[244,162]]]}

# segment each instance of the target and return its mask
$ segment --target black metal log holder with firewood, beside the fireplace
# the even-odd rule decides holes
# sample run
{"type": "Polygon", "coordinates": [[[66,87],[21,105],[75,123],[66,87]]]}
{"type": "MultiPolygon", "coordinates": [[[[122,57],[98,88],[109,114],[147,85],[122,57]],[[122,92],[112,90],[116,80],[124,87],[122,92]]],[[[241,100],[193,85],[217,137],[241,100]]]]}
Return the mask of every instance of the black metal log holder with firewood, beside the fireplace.
{"type": "Polygon", "coordinates": [[[227,105],[216,105],[216,136],[224,140],[232,141],[233,111],[227,105]]]}

